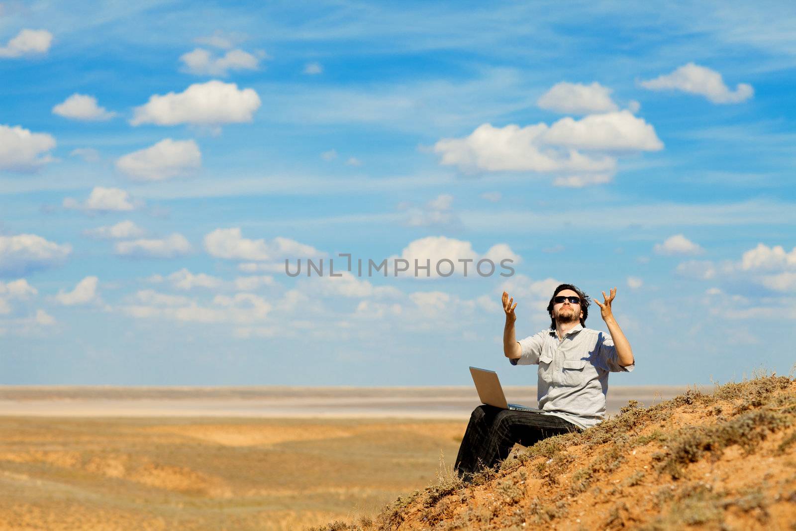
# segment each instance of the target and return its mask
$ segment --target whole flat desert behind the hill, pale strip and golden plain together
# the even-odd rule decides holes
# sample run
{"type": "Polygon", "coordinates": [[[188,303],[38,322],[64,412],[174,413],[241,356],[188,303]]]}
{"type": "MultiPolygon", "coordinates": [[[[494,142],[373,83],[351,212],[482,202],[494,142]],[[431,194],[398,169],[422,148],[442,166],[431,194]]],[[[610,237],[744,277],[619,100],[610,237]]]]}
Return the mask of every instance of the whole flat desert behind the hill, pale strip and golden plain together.
{"type": "MultiPolygon", "coordinates": [[[[609,408],[683,388],[615,388],[609,408]]],[[[534,404],[533,388],[507,388],[534,404]]],[[[472,388],[0,388],[0,529],[301,529],[450,467],[472,388]]]]}

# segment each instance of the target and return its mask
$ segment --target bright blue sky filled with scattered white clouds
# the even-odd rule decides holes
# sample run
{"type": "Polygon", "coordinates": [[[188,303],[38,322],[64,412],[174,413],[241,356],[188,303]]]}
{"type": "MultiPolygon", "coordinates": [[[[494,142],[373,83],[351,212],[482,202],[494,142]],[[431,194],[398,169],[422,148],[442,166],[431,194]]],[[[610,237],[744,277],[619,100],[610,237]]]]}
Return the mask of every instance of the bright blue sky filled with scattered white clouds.
{"type": "Polygon", "coordinates": [[[615,385],[790,371],[787,2],[227,3],[0,3],[0,383],[535,384],[560,282],[615,385]]]}

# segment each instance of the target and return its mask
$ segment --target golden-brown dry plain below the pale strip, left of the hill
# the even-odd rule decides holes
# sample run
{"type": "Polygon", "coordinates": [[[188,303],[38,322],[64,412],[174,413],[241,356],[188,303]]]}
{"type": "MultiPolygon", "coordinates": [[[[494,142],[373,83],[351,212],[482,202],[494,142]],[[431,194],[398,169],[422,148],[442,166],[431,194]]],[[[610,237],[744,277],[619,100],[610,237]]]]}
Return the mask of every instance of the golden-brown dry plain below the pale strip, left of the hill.
{"type": "Polygon", "coordinates": [[[461,421],[0,418],[0,530],[302,529],[426,485],[461,421]]]}

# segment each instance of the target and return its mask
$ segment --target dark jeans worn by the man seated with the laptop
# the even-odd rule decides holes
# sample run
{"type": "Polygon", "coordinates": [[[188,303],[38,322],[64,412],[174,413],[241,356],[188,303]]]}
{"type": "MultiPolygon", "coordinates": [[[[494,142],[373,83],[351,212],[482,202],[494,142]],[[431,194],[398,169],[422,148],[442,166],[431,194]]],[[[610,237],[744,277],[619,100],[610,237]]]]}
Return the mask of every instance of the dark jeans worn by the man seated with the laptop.
{"type": "Polygon", "coordinates": [[[541,439],[579,430],[557,416],[478,406],[470,415],[455,467],[459,476],[470,478],[478,470],[494,467],[508,457],[514,443],[533,446],[541,439]]]}

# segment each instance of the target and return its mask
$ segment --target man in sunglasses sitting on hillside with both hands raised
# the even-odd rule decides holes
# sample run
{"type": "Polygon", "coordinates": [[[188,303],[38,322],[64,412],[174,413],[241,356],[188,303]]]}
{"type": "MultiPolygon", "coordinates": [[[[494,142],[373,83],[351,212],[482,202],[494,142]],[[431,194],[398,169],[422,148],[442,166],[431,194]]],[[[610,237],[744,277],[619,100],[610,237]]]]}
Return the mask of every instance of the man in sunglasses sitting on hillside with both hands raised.
{"type": "Polygon", "coordinates": [[[521,341],[515,339],[517,303],[503,292],[503,353],[512,365],[539,365],[537,412],[475,408],[459,447],[455,467],[463,478],[494,467],[514,443],[531,446],[541,439],[591,428],[603,420],[608,373],[630,372],[635,361],[630,342],[614,318],[611,295],[595,299],[610,335],[585,328],[588,296],[572,284],[556,287],[548,303],[550,328],[521,341]]]}

